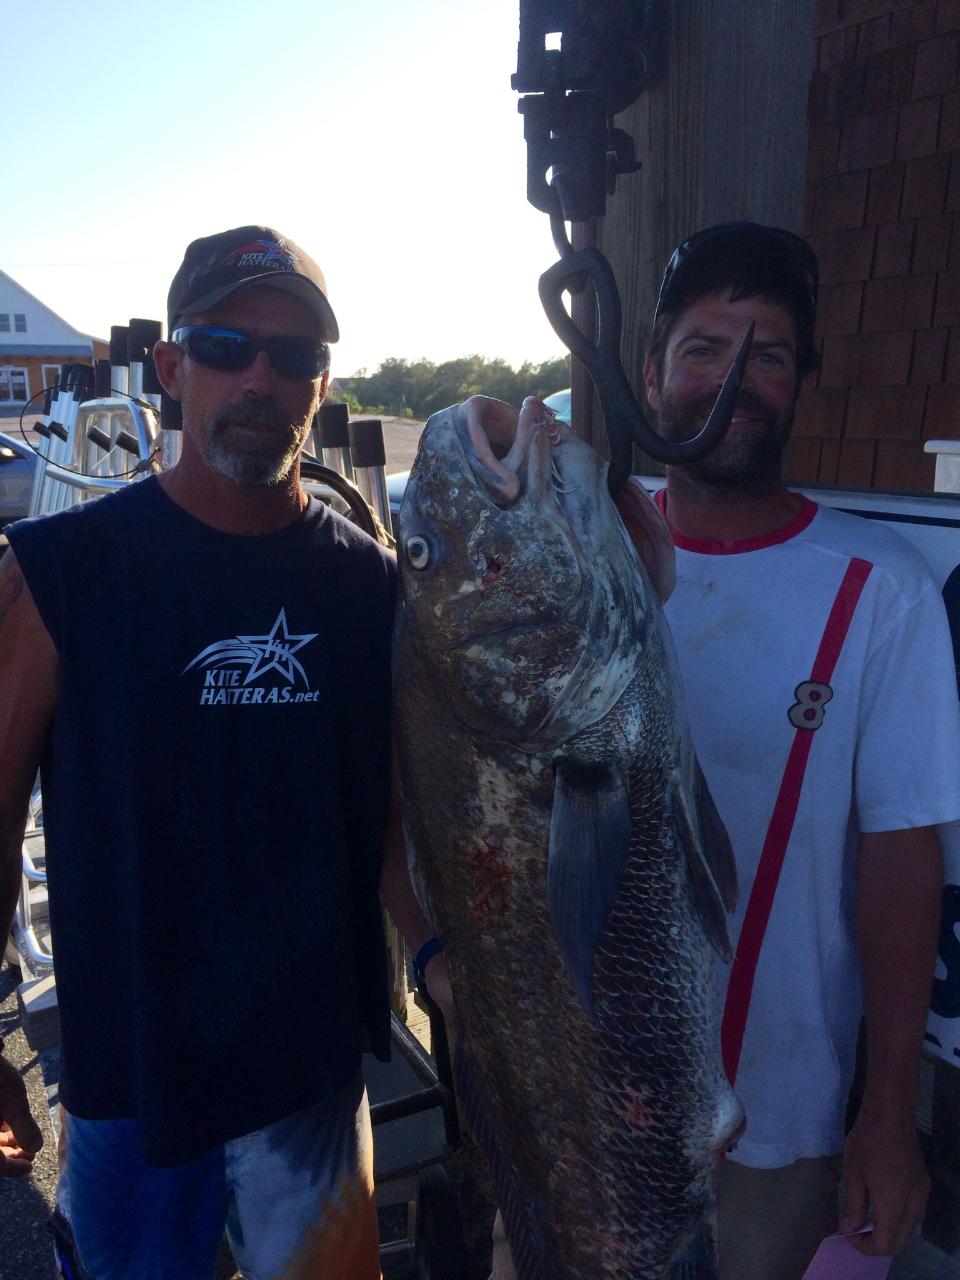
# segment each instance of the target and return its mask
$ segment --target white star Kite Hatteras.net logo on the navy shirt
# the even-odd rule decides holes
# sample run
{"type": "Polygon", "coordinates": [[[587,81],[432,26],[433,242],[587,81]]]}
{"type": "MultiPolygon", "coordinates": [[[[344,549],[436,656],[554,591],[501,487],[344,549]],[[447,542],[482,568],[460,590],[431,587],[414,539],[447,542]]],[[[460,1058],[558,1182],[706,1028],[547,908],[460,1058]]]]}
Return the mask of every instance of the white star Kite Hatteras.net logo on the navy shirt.
{"type": "Polygon", "coordinates": [[[188,662],[180,675],[186,676],[195,667],[204,669],[201,707],[316,701],[319,694],[310,689],[307,673],[293,655],[311,640],[316,640],[317,635],[317,631],[291,634],[287,612],[280,609],[266,635],[237,635],[230,640],[218,640],[188,662]],[[287,684],[278,685],[274,681],[271,686],[265,685],[264,677],[271,672],[276,672],[287,684]],[[303,689],[297,689],[298,684],[303,689]]]}

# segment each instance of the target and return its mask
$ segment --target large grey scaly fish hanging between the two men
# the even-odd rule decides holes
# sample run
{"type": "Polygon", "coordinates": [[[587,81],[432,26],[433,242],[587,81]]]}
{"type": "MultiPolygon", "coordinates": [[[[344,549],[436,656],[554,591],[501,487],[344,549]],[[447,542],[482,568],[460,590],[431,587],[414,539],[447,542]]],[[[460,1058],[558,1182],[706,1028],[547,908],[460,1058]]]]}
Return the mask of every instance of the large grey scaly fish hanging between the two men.
{"type": "Polygon", "coordinates": [[[736,873],[605,470],[539,401],[428,422],[398,550],[404,822],[520,1280],[710,1280],[742,1124],[712,975],[736,873]]]}

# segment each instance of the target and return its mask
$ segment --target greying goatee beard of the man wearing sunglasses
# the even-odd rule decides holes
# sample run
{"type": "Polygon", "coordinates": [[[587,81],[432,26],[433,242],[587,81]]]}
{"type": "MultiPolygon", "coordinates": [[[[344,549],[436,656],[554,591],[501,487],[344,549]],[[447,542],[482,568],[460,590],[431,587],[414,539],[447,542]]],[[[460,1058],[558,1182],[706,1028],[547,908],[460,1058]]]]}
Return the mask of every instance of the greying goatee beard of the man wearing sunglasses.
{"type": "Polygon", "coordinates": [[[244,396],[215,413],[204,458],[219,475],[242,485],[278,485],[300,457],[307,422],[291,422],[274,399],[244,396]],[[234,428],[248,428],[238,433],[234,428]]]}

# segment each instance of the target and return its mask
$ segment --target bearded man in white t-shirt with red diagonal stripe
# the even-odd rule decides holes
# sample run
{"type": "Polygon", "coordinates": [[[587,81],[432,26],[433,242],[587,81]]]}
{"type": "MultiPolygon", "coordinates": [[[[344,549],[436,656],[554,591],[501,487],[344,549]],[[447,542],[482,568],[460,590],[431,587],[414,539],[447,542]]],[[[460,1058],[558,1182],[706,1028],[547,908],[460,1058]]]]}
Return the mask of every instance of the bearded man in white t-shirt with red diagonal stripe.
{"type": "MultiPolygon", "coordinates": [[[[701,428],[755,323],[733,421],[667,468],[666,612],[694,741],[740,876],[722,973],[724,1065],[748,1126],[719,1179],[722,1280],[800,1280],[824,1235],[900,1252],[929,1183],[914,1111],[942,867],[960,815],[946,616],[914,549],[790,492],[782,456],[814,346],[817,260],[788,232],[724,224],[664,275],[645,381],[660,430],[701,428]],[[868,1069],[844,1135],[858,1027],[868,1069]]],[[[627,486],[630,521],[637,495],[627,486]]],[[[644,499],[645,500],[645,499],[644,499]]]]}

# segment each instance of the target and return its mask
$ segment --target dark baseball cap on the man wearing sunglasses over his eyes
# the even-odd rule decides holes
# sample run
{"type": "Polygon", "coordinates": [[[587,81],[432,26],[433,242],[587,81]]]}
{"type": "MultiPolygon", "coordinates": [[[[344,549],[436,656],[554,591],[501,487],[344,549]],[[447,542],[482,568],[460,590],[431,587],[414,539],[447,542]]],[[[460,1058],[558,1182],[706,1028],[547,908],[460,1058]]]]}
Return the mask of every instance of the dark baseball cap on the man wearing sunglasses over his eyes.
{"type": "Polygon", "coordinates": [[[187,246],[166,296],[169,333],[188,315],[206,311],[248,284],[269,284],[300,298],[320,321],[324,342],[340,332],[326,300],[326,282],[298,244],[271,227],[234,227],[187,246]]]}

